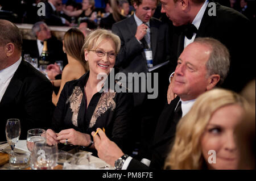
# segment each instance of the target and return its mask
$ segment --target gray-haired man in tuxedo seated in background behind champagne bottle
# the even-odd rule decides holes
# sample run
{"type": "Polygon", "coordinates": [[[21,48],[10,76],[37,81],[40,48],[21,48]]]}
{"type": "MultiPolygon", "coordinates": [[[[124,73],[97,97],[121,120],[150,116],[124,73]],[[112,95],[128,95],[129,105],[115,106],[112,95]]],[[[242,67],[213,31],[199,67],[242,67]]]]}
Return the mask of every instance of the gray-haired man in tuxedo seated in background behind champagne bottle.
{"type": "Polygon", "coordinates": [[[54,64],[57,60],[62,60],[64,66],[67,64],[67,56],[63,52],[63,44],[51,35],[49,27],[44,22],[37,22],[32,26],[32,33],[36,37],[35,40],[23,40],[23,54],[30,54],[32,58],[40,58],[43,51],[43,41],[47,40],[47,49],[50,64],[54,64]]]}

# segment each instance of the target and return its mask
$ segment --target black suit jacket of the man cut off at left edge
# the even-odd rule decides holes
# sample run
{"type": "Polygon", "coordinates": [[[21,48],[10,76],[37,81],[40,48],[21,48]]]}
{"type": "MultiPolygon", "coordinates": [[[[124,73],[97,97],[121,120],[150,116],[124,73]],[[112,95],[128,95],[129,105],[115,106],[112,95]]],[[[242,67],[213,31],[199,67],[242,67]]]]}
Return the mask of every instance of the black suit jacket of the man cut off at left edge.
{"type": "Polygon", "coordinates": [[[22,60],[0,102],[0,140],[6,140],[7,119],[20,120],[20,139],[28,129],[49,128],[52,117],[51,82],[32,65],[22,60]]]}

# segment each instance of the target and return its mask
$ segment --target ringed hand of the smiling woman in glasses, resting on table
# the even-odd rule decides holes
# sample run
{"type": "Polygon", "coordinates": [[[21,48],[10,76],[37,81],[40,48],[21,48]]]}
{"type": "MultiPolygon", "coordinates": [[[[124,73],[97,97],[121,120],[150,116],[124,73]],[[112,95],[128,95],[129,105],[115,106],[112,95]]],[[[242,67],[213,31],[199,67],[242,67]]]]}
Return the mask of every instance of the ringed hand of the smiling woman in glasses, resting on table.
{"type": "Polygon", "coordinates": [[[88,146],[90,144],[90,135],[75,131],[75,129],[64,129],[58,133],[57,140],[61,143],[65,143],[66,140],[68,144],[88,146]]]}

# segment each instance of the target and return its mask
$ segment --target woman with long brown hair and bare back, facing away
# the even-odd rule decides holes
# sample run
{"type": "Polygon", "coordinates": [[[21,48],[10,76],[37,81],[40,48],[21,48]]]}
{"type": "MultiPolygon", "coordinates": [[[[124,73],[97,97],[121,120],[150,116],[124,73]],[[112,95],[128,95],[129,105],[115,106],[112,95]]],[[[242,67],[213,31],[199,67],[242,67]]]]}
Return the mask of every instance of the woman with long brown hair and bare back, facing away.
{"type": "MultiPolygon", "coordinates": [[[[63,39],[63,51],[67,54],[68,64],[63,69],[61,79],[51,81],[53,86],[60,87],[57,95],[54,91],[52,93],[52,103],[55,104],[55,106],[57,105],[60,92],[63,89],[65,83],[79,79],[86,73],[86,71],[88,71],[87,62],[84,60],[84,54],[81,51],[82,45],[84,45],[84,34],[80,30],[77,28],[71,28],[65,33],[63,39]]],[[[50,74],[55,70],[57,69],[49,70],[48,77],[53,77],[50,76],[50,74]]],[[[60,70],[57,74],[59,73],[60,70]]]]}

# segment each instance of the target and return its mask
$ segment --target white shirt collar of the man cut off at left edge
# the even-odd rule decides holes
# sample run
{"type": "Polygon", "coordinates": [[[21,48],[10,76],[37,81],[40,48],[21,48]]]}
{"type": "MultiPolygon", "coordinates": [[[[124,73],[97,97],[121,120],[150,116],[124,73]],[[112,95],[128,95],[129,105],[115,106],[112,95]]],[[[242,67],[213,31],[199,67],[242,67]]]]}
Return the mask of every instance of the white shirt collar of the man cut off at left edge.
{"type": "Polygon", "coordinates": [[[0,70],[0,102],[3,98],[3,94],[5,94],[5,91],[9,86],[11,79],[13,78],[15,71],[18,69],[21,61],[22,61],[22,57],[20,57],[19,60],[16,61],[13,65],[3,70],[0,70]]]}

